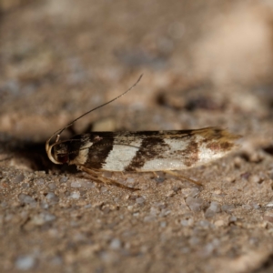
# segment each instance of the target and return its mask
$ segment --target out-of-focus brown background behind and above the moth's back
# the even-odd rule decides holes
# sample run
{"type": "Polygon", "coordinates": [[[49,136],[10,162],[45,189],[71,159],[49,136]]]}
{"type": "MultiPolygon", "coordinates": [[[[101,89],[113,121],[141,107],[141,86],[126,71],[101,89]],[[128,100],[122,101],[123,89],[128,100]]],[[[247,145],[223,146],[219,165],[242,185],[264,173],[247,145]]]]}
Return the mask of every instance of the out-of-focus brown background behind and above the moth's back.
{"type": "Polygon", "coordinates": [[[271,1],[1,0],[0,11],[2,133],[44,141],[144,74],[83,123],[268,135],[271,1]]]}

